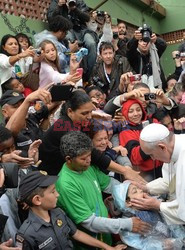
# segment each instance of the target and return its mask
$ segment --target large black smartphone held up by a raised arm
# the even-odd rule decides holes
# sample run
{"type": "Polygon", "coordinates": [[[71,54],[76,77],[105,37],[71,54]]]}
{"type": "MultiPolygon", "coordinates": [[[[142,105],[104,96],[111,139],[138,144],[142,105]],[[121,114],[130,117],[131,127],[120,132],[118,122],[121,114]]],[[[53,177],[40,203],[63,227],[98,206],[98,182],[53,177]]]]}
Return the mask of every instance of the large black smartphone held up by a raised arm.
{"type": "Polygon", "coordinates": [[[73,88],[74,87],[70,84],[61,85],[61,83],[59,83],[57,85],[53,85],[50,89],[52,102],[69,100],[72,95],[73,88]]]}

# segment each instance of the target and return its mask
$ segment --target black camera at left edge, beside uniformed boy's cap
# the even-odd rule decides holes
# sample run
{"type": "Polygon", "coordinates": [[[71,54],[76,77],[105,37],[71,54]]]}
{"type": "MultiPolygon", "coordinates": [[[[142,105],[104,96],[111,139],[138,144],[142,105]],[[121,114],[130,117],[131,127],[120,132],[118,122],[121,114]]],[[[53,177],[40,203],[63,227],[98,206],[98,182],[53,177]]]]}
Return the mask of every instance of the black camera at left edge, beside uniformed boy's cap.
{"type": "Polygon", "coordinates": [[[18,165],[12,162],[1,163],[0,168],[4,170],[4,186],[6,188],[16,188],[18,186],[18,165]]]}

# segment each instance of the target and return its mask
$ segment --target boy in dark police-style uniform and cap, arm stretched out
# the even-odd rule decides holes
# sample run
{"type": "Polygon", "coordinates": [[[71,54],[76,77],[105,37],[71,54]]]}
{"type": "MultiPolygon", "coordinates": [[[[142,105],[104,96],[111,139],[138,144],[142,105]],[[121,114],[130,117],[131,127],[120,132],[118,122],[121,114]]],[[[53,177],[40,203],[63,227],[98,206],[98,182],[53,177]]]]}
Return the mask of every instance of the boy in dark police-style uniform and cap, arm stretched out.
{"type": "Polygon", "coordinates": [[[16,235],[17,246],[29,249],[73,249],[72,241],[81,241],[89,246],[107,250],[115,248],[92,238],[78,230],[75,224],[56,207],[58,193],[55,189],[57,176],[49,176],[44,171],[33,171],[21,179],[20,200],[29,205],[28,219],[24,221],[16,235]]]}

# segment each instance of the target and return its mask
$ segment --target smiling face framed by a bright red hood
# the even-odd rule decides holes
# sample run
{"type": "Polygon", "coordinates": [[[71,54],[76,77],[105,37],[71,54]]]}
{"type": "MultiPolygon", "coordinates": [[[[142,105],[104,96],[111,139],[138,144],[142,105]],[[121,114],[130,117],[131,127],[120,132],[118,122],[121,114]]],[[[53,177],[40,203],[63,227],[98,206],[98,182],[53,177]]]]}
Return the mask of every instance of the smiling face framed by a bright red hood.
{"type": "Polygon", "coordinates": [[[143,111],[138,103],[134,103],[130,106],[128,111],[128,119],[130,122],[139,124],[142,120],[143,111]]]}

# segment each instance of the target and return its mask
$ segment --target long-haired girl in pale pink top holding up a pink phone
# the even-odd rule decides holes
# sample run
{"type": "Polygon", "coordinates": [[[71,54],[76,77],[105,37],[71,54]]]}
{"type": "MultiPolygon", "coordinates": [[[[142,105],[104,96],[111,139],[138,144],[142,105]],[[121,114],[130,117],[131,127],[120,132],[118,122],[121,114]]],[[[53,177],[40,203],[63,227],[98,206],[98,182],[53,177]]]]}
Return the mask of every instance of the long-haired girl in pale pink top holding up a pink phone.
{"type": "Polygon", "coordinates": [[[71,55],[70,73],[62,74],[60,73],[59,58],[54,43],[45,40],[40,44],[40,47],[42,54],[44,54],[39,72],[40,87],[44,87],[51,82],[66,83],[71,81],[76,83],[81,79],[80,74],[76,72],[76,69],[79,68],[79,63],[76,61],[75,55],[71,55]]]}

